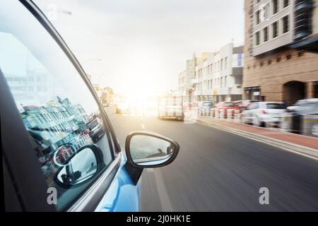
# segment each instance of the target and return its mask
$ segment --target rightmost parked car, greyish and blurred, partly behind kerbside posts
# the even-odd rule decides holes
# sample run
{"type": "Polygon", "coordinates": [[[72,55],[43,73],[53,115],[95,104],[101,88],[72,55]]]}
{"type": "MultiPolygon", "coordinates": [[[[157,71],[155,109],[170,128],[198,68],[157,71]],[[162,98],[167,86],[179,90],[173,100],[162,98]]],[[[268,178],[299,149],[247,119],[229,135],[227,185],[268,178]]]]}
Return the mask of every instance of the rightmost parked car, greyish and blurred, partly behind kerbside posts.
{"type": "Polygon", "coordinates": [[[298,100],[295,105],[288,107],[288,111],[283,117],[283,129],[292,133],[303,133],[304,129],[308,129],[302,125],[302,118],[305,116],[314,117],[316,119],[311,119],[310,122],[313,124],[311,126],[308,124],[307,126],[312,127],[318,125],[318,98],[298,100]]]}

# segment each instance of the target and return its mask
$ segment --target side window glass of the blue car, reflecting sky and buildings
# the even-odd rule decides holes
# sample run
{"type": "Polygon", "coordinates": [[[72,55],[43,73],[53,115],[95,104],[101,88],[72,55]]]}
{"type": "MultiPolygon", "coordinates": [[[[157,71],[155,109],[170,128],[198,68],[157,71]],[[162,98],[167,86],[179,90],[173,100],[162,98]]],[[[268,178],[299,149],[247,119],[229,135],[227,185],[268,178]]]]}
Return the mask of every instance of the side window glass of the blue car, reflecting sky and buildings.
{"type": "MultiPolygon", "coordinates": [[[[113,158],[110,138],[98,103],[57,42],[20,2],[4,4],[9,4],[4,8],[15,8],[15,13],[0,12],[0,69],[47,186],[57,189],[56,208],[64,210],[88,189],[93,179],[76,187],[59,186],[57,173],[63,162],[76,155],[79,148],[95,144],[102,150],[106,169],[113,158]]],[[[86,159],[90,161],[84,153],[81,165],[87,164],[86,159]]],[[[95,167],[95,162],[91,162],[91,167],[95,167]]],[[[89,170],[77,172],[78,178],[90,175],[89,170]]]]}

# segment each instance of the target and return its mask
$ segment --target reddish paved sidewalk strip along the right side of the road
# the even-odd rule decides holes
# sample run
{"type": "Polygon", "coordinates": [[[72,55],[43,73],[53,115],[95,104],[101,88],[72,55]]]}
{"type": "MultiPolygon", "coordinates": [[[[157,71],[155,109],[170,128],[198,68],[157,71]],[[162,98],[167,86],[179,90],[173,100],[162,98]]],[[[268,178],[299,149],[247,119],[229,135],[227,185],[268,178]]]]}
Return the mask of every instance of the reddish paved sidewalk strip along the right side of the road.
{"type": "MultiPolygon", "coordinates": [[[[229,121],[226,119],[215,119],[213,117],[198,117],[198,121],[206,122],[214,126],[221,126],[223,129],[228,129],[232,131],[239,131],[247,133],[249,136],[254,135],[255,138],[268,138],[272,141],[281,141],[281,143],[287,143],[289,146],[285,148],[290,148],[290,145],[297,145],[299,148],[308,148],[311,152],[310,155],[318,156],[318,138],[311,136],[303,136],[295,133],[286,133],[283,131],[266,129],[257,126],[251,126],[247,124],[239,124],[238,122],[229,121]],[[317,155],[316,155],[317,154],[317,155]]],[[[221,129],[222,129],[221,128],[221,129]]],[[[264,141],[266,142],[266,141],[264,141]]],[[[308,153],[307,153],[308,154],[308,153]]]]}

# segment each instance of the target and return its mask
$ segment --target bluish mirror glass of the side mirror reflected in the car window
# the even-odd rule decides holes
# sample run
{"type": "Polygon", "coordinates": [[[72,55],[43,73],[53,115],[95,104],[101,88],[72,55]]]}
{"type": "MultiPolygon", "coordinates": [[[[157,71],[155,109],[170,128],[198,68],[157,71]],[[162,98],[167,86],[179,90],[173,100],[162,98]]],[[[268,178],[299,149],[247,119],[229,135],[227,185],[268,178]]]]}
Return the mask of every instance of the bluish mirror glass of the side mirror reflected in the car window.
{"type": "Polygon", "coordinates": [[[84,148],[73,155],[57,174],[57,179],[64,186],[73,186],[93,177],[97,172],[97,159],[93,150],[84,148]]]}

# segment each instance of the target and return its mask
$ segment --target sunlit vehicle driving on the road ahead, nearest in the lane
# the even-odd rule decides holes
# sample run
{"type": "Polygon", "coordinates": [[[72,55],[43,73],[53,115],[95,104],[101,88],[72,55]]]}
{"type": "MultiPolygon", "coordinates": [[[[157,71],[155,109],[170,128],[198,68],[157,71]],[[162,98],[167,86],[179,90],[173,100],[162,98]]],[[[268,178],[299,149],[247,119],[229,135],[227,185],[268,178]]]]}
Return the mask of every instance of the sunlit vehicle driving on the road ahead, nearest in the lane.
{"type": "Polygon", "coordinates": [[[184,121],[182,100],[179,97],[163,98],[158,106],[158,119],[177,119],[184,121]]]}

